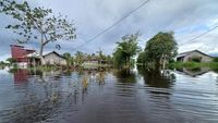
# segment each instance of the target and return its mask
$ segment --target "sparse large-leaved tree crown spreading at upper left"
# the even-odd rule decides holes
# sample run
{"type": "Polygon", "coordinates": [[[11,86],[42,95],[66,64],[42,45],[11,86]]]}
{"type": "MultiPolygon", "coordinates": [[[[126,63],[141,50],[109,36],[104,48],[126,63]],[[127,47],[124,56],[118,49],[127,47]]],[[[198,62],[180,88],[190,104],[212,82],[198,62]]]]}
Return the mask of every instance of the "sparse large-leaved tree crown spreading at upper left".
{"type": "MultiPolygon", "coordinates": [[[[25,44],[29,40],[37,40],[40,44],[40,57],[47,44],[59,39],[71,40],[76,38],[74,24],[66,21],[66,16],[63,17],[61,14],[51,15],[51,9],[32,8],[27,1],[1,0],[0,12],[19,22],[15,25],[7,26],[22,37],[16,39],[19,42],[25,44]]],[[[58,45],[57,48],[60,48],[60,46],[58,45]]]]}

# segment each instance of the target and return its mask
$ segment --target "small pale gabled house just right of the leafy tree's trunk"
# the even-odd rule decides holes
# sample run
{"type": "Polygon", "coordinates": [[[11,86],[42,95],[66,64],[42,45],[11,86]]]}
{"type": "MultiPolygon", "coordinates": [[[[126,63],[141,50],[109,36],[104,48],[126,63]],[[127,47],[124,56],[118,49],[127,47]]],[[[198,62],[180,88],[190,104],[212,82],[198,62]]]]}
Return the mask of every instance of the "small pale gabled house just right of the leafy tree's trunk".
{"type": "Polygon", "coordinates": [[[50,53],[47,53],[43,56],[41,64],[56,64],[56,65],[66,65],[66,59],[62,57],[61,54],[57,53],[56,51],[52,51],[50,53]]]}

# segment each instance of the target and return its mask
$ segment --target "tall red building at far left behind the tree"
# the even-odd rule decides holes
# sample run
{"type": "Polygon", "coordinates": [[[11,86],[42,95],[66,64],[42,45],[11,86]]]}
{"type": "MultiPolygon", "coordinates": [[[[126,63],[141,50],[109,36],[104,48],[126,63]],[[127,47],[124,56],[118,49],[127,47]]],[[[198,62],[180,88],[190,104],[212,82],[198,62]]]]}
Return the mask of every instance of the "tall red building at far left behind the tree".
{"type": "Polygon", "coordinates": [[[23,46],[11,45],[11,56],[17,63],[17,65],[26,66],[31,64],[28,54],[36,52],[32,49],[25,49],[23,46]]]}

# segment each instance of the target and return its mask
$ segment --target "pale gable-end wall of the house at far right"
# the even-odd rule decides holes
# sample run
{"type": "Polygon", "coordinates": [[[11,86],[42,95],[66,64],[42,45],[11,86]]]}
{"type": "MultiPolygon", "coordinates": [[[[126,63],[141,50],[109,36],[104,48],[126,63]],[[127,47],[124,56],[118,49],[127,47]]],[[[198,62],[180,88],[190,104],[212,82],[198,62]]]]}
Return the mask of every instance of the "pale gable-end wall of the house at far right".
{"type": "Polygon", "coordinates": [[[202,62],[210,62],[213,60],[210,57],[195,51],[195,52],[191,52],[187,56],[185,56],[184,59],[183,59],[183,62],[190,61],[190,59],[193,58],[193,57],[201,57],[202,58],[202,62]]]}

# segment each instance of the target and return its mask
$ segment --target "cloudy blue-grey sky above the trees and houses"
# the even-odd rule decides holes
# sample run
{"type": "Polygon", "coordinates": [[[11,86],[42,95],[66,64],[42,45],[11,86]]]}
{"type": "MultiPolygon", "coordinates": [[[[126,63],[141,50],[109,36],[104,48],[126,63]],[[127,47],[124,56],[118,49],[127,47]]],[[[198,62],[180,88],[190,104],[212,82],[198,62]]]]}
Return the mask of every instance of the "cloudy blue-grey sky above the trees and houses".
{"type": "MultiPolygon", "coordinates": [[[[77,46],[84,44],[96,34],[120,20],[144,0],[28,0],[34,7],[45,7],[68,15],[77,27],[77,39],[60,40],[58,52],[74,53],[77,46]]],[[[10,57],[10,45],[15,34],[5,30],[4,26],[14,23],[12,19],[0,14],[0,61],[10,57]]],[[[119,25],[111,28],[97,39],[77,48],[84,52],[96,52],[101,49],[109,54],[116,42],[126,34],[137,30],[142,33],[140,46],[144,49],[146,41],[158,32],[174,32],[179,44],[179,52],[199,49],[206,53],[218,53],[218,28],[209,34],[189,42],[210,28],[218,26],[218,0],[150,0],[143,8],[131,14],[119,25]]],[[[49,44],[45,52],[56,50],[56,44],[49,44]]],[[[25,45],[38,50],[36,41],[25,45]]]]}

